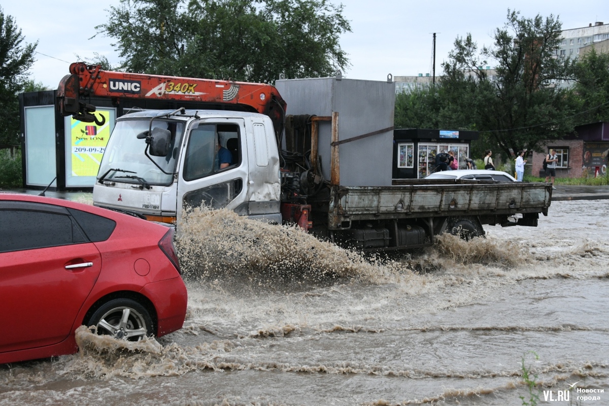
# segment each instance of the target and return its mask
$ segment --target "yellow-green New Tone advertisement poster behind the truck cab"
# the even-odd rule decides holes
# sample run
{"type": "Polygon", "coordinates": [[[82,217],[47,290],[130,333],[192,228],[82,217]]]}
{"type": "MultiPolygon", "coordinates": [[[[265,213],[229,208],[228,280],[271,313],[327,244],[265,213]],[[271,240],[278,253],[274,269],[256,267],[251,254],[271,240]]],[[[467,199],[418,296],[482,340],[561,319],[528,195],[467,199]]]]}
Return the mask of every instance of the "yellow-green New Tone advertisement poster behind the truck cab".
{"type": "Polygon", "coordinates": [[[71,119],[72,177],[94,177],[110,138],[110,111],[97,110],[104,117],[104,125],[71,119]]]}

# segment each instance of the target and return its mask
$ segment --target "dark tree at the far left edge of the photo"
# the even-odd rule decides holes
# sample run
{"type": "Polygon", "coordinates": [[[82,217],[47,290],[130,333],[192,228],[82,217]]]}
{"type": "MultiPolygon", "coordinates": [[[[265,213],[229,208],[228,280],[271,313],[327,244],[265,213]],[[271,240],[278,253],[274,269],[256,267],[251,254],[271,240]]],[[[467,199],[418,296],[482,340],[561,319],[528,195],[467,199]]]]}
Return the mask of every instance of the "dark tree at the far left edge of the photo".
{"type": "Polygon", "coordinates": [[[19,99],[38,43],[24,44],[21,29],[0,7],[0,145],[19,144],[19,99]]]}

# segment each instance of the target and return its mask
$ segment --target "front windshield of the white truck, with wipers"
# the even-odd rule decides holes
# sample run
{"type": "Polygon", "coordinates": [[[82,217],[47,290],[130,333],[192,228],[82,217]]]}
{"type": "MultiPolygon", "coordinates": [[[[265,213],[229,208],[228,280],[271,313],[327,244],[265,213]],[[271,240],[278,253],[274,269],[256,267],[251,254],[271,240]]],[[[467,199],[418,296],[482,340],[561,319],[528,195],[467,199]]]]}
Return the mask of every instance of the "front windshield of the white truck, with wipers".
{"type": "Polygon", "coordinates": [[[117,121],[97,172],[97,179],[105,181],[136,183],[146,185],[169,185],[177,162],[177,149],[184,132],[182,122],[155,120],[152,128],[160,127],[171,131],[171,144],[166,156],[152,156],[152,162],[144,154],[146,139],[138,139],[143,131],[149,130],[150,119],[117,121]],[[155,163],[158,165],[155,165],[155,163]],[[163,169],[167,173],[163,173],[163,169]],[[169,174],[168,174],[169,173],[169,174]]]}

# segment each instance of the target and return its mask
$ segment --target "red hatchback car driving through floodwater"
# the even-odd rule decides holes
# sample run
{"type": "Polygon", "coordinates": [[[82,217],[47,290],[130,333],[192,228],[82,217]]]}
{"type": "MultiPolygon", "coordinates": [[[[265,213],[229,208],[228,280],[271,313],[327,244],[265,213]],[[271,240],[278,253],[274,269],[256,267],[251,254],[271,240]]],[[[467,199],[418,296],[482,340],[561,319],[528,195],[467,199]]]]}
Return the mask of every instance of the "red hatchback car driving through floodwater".
{"type": "Polygon", "coordinates": [[[0,194],[0,363],[72,354],[81,324],[130,341],[180,329],[173,235],[107,209],[0,194]]]}

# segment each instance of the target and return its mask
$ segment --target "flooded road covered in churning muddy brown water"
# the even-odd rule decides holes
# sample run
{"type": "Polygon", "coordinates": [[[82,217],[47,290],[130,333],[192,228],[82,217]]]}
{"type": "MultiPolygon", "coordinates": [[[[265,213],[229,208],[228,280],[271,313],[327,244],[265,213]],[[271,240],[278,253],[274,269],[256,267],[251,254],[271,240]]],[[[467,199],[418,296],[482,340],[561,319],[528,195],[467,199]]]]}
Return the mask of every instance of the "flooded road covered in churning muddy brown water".
{"type": "Polygon", "coordinates": [[[537,404],[609,405],[608,223],[607,200],[557,201],[537,228],[367,262],[201,215],[181,331],[79,331],[79,354],[0,365],[0,405],[522,405],[523,369],[537,404]]]}

